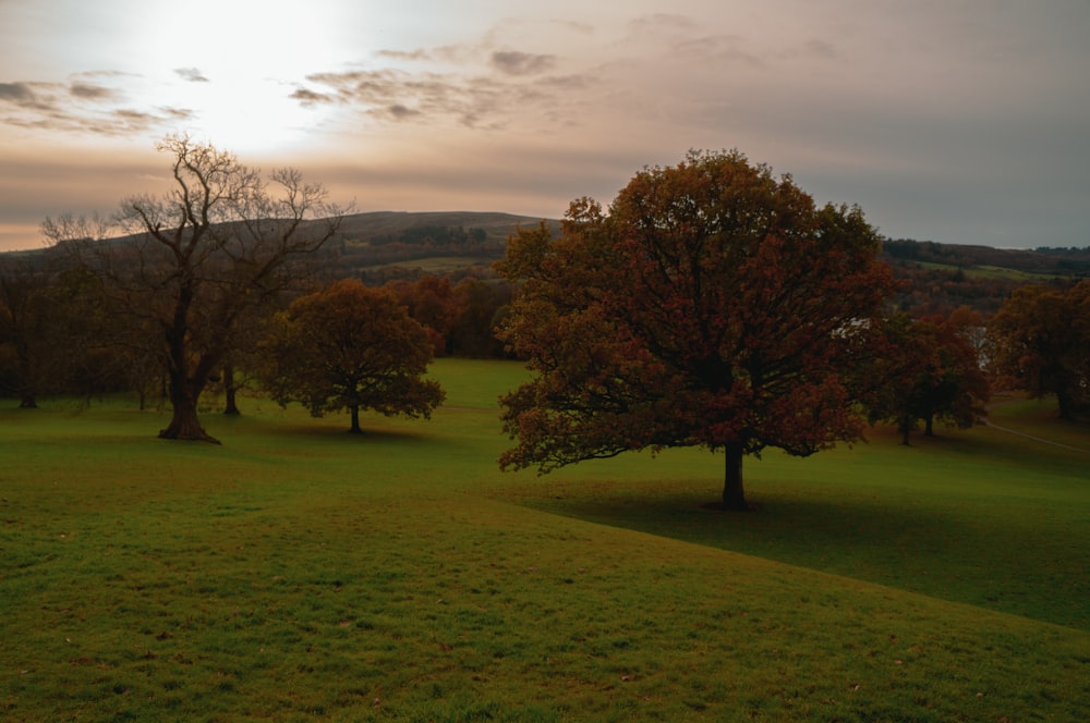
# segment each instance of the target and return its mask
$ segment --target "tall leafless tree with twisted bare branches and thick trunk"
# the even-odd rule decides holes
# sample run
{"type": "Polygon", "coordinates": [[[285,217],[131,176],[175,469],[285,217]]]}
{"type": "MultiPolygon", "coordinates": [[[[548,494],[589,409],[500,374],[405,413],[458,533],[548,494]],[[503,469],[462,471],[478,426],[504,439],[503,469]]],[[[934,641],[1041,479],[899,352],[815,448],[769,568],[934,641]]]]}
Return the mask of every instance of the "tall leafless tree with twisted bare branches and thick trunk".
{"type": "Polygon", "coordinates": [[[46,219],[43,231],[107,282],[122,319],[157,330],[172,407],[159,437],[216,442],[201,425],[197,401],[240,320],[296,279],[292,261],[320,248],[342,211],[295,170],[266,181],[233,154],[184,135],[157,148],[172,158],[173,189],[121,203],[114,221],[130,236],[88,237],[83,220],[71,217],[46,219]]]}

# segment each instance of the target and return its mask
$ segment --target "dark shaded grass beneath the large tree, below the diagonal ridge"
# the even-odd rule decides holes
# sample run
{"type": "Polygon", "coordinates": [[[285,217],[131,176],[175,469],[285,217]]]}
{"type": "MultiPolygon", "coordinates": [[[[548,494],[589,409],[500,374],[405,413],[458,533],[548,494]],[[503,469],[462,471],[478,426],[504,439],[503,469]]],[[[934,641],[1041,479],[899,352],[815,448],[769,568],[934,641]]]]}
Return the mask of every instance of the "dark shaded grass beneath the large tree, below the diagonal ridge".
{"type": "MultiPolygon", "coordinates": [[[[529,490],[524,490],[525,494],[529,490]]],[[[1085,554],[1042,520],[921,491],[879,495],[762,480],[755,510],[714,508],[692,482],[538,488],[520,504],[567,517],[1087,629],[1085,554]],[[542,494],[541,492],[545,492],[542,494]]]]}

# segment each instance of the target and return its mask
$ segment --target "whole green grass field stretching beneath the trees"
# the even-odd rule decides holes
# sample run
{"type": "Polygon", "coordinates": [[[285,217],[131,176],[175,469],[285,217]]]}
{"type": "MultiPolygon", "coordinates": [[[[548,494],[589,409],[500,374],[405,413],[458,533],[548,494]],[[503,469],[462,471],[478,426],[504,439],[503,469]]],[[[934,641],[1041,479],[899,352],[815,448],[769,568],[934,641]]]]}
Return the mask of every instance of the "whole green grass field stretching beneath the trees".
{"type": "MultiPolygon", "coordinates": [[[[1082,721],[1090,454],[995,429],[500,474],[518,365],[431,421],[0,409],[0,719],[1082,721]]],[[[14,406],[14,405],[10,405],[14,406]]],[[[1090,448],[1046,406],[1002,426],[1090,448]]]]}

